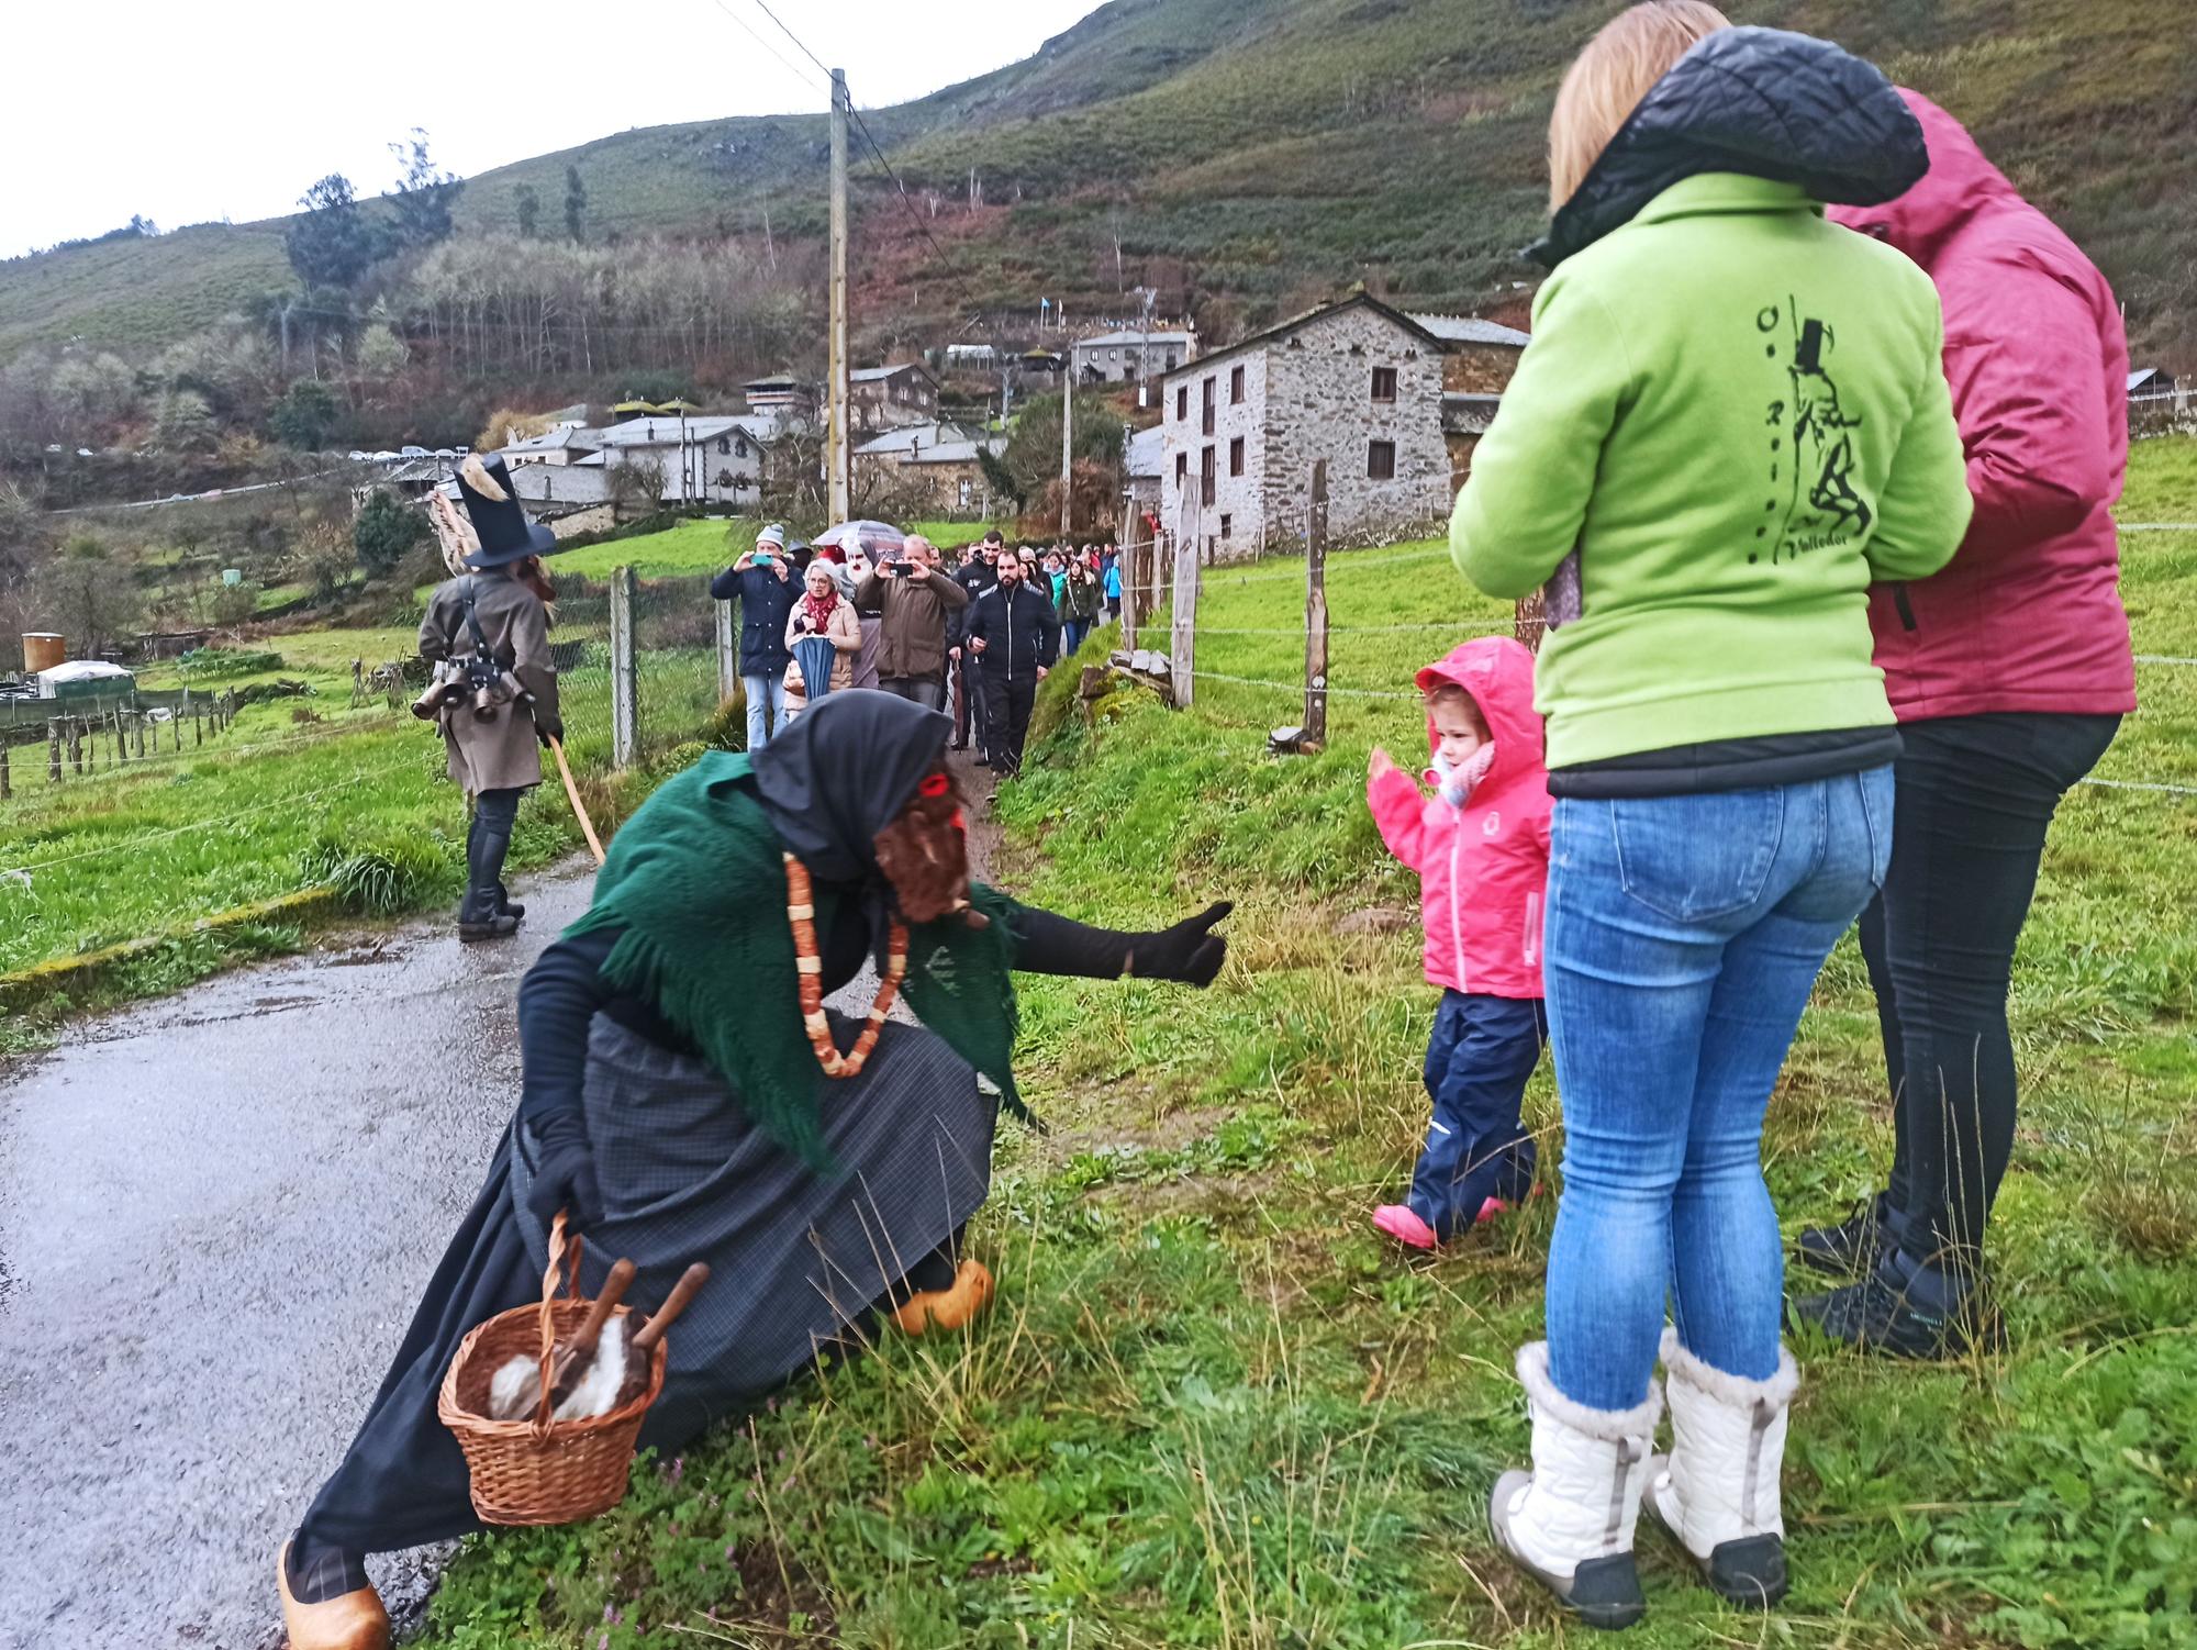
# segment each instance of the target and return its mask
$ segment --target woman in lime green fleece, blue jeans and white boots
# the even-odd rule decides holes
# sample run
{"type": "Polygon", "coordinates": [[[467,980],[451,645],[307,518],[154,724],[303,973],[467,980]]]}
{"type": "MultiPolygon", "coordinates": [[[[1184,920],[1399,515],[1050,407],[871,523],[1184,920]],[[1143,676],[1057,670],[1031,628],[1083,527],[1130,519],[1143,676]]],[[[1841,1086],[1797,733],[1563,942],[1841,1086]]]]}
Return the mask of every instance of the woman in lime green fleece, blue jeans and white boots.
{"type": "Polygon", "coordinates": [[[1698,0],[1632,7],[1566,75],[1549,152],[1553,275],[1450,523],[1474,584],[1547,584],[1551,620],[1564,1195],[1549,1338],[1518,1353],[1534,1472],[1492,1520],[1626,1626],[1643,1494],[1725,1597],[1784,1595],[1797,1373],[1762,1114],[1892,850],[1867,587],[1944,565],[1969,490],[1929,277],[1824,220],[1929,165],[1870,64],[1698,0]]]}

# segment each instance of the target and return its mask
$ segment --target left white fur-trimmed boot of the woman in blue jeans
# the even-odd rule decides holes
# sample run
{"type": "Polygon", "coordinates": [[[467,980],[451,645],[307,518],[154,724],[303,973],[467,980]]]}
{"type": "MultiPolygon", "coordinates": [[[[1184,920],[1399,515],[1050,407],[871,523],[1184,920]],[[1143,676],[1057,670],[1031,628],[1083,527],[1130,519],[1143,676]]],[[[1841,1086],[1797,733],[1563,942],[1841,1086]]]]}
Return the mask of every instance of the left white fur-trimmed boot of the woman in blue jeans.
{"type": "Polygon", "coordinates": [[[1549,1380],[1549,1342],[1518,1349],[1534,1415],[1534,1472],[1505,1472],[1487,1505],[1496,1545],[1593,1628],[1628,1628],[1648,1604],[1632,1569],[1632,1527],[1663,1413],[1650,1382],[1626,1411],[1573,1404],[1549,1380]]]}

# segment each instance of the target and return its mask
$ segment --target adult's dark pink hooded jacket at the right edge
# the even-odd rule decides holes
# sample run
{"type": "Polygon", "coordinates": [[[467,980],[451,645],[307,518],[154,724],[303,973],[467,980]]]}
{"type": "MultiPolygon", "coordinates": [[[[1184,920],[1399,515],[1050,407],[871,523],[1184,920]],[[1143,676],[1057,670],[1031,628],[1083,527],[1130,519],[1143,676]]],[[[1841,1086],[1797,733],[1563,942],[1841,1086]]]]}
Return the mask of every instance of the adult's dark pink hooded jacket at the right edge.
{"type": "Polygon", "coordinates": [[[2114,290],[1960,121],[1900,88],[1929,174],[1883,207],[1832,207],[1920,264],[1944,303],[1944,376],[1975,519],[1931,578],[1870,591],[1903,723],[2135,710],[2114,503],[2129,464],[2129,343],[2114,290]]]}

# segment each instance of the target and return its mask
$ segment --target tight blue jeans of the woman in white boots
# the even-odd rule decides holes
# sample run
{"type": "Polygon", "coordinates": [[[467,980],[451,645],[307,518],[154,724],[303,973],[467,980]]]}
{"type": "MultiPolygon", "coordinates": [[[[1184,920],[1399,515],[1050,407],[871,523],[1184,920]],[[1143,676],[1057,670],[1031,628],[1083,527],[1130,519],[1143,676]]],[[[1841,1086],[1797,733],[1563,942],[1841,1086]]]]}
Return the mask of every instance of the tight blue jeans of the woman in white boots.
{"type": "Polygon", "coordinates": [[[1696,1358],[1777,1373],[1784,1248],[1762,1114],[1815,975],[1889,857],[1889,767],[1555,804],[1542,973],[1564,1197],[1547,1309],[1564,1397],[1648,1397],[1665,1290],[1696,1358]]]}

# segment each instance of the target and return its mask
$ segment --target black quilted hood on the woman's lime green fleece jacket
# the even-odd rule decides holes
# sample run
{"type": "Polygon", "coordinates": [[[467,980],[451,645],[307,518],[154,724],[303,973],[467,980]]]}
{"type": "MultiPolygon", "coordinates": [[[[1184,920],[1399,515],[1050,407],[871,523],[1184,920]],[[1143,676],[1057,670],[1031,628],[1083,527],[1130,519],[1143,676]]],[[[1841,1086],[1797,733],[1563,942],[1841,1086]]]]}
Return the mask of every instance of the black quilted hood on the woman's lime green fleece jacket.
{"type": "Polygon", "coordinates": [[[1874,207],[1929,171],[1929,147],[1876,64],[1815,35],[1718,29],[1648,90],[1527,257],[1555,268],[1698,171],[1874,207]]]}

